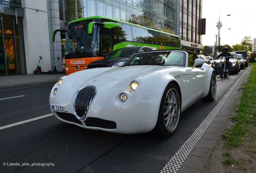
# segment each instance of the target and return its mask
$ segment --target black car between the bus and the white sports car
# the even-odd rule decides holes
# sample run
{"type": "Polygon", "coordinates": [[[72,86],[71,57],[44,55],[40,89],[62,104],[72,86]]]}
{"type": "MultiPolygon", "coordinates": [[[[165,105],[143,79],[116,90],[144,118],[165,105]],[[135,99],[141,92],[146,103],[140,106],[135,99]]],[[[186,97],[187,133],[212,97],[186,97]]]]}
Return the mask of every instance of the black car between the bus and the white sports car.
{"type": "Polygon", "coordinates": [[[126,62],[133,54],[147,50],[157,50],[150,46],[125,47],[109,52],[104,59],[96,60],[87,65],[86,69],[98,67],[117,67],[119,62],[126,62]]]}

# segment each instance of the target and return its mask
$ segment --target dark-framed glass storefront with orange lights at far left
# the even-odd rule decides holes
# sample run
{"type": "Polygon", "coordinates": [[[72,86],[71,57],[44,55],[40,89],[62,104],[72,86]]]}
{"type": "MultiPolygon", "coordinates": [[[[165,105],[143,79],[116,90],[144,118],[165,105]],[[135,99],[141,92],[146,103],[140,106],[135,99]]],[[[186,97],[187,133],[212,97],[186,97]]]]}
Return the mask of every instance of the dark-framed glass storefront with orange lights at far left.
{"type": "Polygon", "coordinates": [[[26,74],[21,0],[0,5],[0,76],[26,74]]]}

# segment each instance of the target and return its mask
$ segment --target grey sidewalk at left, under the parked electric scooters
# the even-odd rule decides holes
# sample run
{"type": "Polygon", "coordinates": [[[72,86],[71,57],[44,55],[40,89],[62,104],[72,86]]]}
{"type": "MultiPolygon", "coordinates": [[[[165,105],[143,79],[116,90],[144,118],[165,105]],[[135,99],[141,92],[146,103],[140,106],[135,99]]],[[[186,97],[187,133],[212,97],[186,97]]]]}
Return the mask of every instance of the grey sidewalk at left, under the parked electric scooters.
{"type": "Polygon", "coordinates": [[[0,90],[55,84],[65,74],[20,74],[0,76],[0,90]]]}

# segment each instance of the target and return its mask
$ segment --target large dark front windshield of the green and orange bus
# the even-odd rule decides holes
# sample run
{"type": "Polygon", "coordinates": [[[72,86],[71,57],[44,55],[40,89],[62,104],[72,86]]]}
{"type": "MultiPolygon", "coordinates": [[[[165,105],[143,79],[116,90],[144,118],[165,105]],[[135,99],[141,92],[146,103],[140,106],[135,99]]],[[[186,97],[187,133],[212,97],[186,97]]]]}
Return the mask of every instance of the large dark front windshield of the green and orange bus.
{"type": "Polygon", "coordinates": [[[88,25],[95,20],[81,20],[68,24],[65,43],[66,59],[93,57],[99,54],[98,26],[95,25],[93,35],[88,35],[88,25]]]}

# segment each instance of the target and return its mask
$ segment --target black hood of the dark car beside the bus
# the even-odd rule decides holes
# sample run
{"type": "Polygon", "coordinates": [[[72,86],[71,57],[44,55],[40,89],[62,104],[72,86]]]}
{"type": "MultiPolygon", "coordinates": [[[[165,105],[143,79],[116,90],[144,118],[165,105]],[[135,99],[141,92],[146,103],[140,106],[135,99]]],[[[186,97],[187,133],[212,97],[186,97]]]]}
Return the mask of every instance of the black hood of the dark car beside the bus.
{"type": "Polygon", "coordinates": [[[126,62],[130,57],[116,57],[116,58],[105,58],[97,61],[93,61],[87,65],[87,68],[96,68],[96,67],[107,67],[112,66],[118,62],[126,62]]]}

